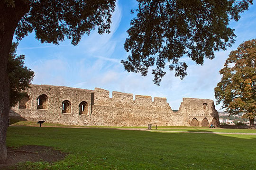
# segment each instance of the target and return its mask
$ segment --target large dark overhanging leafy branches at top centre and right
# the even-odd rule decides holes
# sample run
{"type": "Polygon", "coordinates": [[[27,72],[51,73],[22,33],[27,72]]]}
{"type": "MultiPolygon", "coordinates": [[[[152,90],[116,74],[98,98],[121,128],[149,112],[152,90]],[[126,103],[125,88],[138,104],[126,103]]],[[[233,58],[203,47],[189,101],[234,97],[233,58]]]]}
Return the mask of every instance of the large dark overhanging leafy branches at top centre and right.
{"type": "Polygon", "coordinates": [[[239,19],[252,0],[137,0],[137,17],[131,21],[124,44],[130,52],[122,60],[128,72],[146,76],[155,66],[153,82],[159,85],[166,64],[175,76],[187,75],[184,55],[197,64],[213,59],[214,51],[226,50],[234,42],[229,21],[239,19]]]}

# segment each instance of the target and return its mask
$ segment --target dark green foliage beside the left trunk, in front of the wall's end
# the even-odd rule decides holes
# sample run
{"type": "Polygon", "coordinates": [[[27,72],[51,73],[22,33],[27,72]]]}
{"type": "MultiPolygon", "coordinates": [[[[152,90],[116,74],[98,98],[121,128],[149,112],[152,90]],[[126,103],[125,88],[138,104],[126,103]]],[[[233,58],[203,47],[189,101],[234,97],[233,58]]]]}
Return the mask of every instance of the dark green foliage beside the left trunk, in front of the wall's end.
{"type": "Polygon", "coordinates": [[[29,87],[30,82],[34,78],[34,72],[24,66],[25,55],[17,56],[17,46],[18,43],[12,43],[7,66],[10,84],[10,107],[15,106],[15,104],[24,97],[26,93],[22,91],[29,87]]]}

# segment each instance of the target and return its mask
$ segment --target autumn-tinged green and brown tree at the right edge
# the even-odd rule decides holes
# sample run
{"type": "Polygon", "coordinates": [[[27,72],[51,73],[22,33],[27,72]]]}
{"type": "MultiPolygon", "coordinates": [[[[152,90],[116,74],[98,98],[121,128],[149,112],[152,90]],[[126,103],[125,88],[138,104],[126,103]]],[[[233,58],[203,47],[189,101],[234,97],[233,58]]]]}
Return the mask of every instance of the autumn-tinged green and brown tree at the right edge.
{"type": "Polygon", "coordinates": [[[231,51],[224,68],[219,73],[221,81],[215,87],[217,104],[230,114],[245,113],[243,118],[256,116],[256,39],[239,45],[231,51]]]}

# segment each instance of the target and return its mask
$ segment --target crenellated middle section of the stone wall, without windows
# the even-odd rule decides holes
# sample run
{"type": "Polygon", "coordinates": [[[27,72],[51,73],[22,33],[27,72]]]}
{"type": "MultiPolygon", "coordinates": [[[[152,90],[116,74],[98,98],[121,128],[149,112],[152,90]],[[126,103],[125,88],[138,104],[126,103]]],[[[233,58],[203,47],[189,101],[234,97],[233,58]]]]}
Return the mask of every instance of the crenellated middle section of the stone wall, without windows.
{"type": "Polygon", "coordinates": [[[155,97],[152,102],[151,96],[135,95],[133,100],[133,94],[115,91],[110,98],[109,91],[95,88],[94,99],[91,120],[98,126],[179,126],[183,123],[166,98],[155,97]]]}

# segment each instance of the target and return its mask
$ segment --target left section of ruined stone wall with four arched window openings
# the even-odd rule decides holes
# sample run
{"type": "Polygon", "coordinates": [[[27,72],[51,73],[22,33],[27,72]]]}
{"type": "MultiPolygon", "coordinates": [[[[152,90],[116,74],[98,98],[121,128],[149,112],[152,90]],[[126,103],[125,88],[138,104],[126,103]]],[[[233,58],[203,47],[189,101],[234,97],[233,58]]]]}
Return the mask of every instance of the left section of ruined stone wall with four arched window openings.
{"type": "MultiPolygon", "coordinates": [[[[29,101],[26,109],[19,109],[19,103],[11,109],[10,117],[26,120],[46,120],[47,122],[85,125],[88,124],[89,113],[91,112],[91,93],[92,90],[83,90],[70,87],[53,85],[31,85],[27,89],[29,101]],[[38,97],[46,97],[45,108],[38,108],[38,97]],[[63,102],[68,101],[66,112],[63,113],[63,102]],[[79,114],[79,104],[86,102],[84,114],[79,114]]],[[[44,100],[41,98],[41,101],[44,100]]],[[[40,99],[39,99],[40,102],[40,99]]]]}

